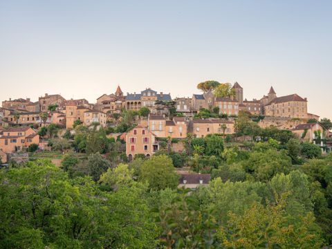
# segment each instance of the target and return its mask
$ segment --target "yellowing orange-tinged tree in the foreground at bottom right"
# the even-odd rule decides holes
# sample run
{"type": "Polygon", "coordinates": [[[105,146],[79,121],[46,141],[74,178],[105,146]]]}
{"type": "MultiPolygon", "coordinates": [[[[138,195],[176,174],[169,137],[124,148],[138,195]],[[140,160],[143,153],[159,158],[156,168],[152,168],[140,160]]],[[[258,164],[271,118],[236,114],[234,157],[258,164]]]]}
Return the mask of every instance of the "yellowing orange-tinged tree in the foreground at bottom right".
{"type": "Polygon", "coordinates": [[[322,238],[313,214],[289,224],[283,208],[281,199],[277,205],[252,205],[243,215],[231,212],[217,236],[225,248],[320,248],[322,238]]]}

